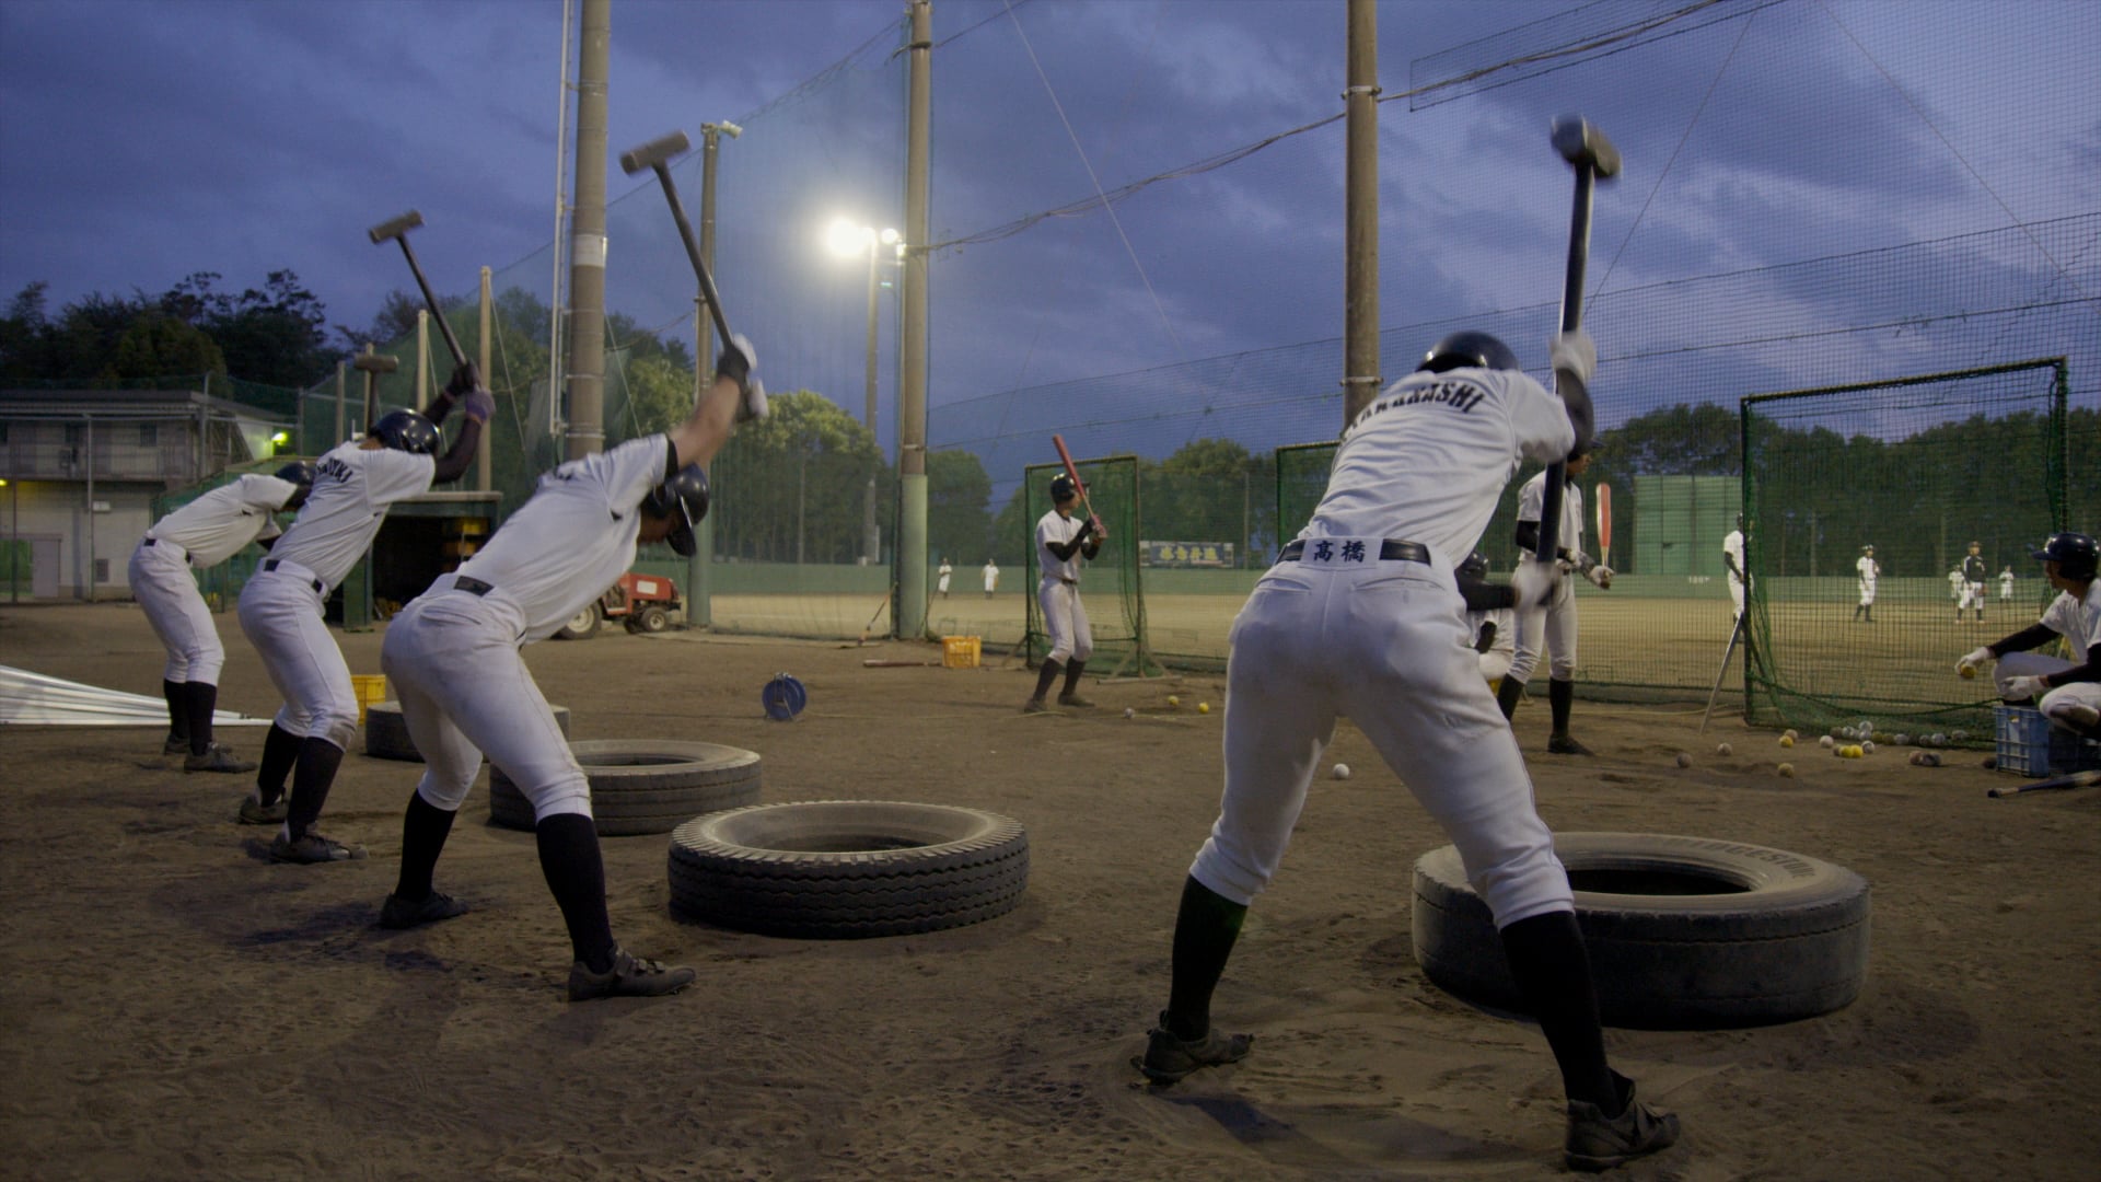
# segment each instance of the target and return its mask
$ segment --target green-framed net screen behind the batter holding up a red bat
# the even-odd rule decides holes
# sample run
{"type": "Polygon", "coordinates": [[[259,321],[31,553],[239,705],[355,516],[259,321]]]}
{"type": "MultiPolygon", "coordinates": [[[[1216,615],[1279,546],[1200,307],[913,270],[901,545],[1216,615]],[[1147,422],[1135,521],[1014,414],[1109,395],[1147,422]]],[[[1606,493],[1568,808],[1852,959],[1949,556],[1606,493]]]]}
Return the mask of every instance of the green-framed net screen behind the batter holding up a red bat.
{"type": "MultiPolygon", "coordinates": [[[[1095,461],[1074,456],[1074,467],[1080,469],[1080,486],[1086,490],[1086,501],[1074,515],[1093,509],[1109,532],[1101,553],[1084,559],[1080,570],[1080,604],[1095,639],[1095,654],[1088,656],[1086,669],[1095,677],[1153,675],[1160,665],[1145,644],[1145,568],[1139,559],[1141,543],[1137,536],[1139,524],[1145,519],[1139,509],[1139,461],[1137,456],[1095,461]]],[[[1036,597],[1036,585],[1042,578],[1042,566],[1036,562],[1036,522],[1055,509],[1050,482],[1063,471],[1063,463],[1029,465],[1021,477],[1025,494],[1015,503],[1019,511],[1013,515],[1013,528],[1019,530],[1017,536],[1027,547],[1027,557],[1019,564],[1021,591],[1027,593],[1021,654],[1032,669],[1050,652],[1042,602],[1036,597]]],[[[945,604],[935,599],[929,608],[929,620],[935,631],[954,635],[948,629],[954,629],[956,623],[943,623],[958,616],[943,616],[943,610],[945,604]]]]}

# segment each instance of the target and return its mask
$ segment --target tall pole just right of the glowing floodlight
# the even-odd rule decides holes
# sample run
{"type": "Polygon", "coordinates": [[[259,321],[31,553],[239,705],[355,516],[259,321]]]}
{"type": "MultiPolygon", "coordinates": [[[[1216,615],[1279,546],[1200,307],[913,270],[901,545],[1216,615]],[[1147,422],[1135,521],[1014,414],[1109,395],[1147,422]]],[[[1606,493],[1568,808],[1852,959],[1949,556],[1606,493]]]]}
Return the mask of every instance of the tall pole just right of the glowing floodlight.
{"type": "Polygon", "coordinates": [[[910,90],[906,101],[906,267],[897,389],[897,610],[899,639],[927,635],[927,151],[933,126],[933,4],[912,0],[912,40],[906,42],[910,90]]]}

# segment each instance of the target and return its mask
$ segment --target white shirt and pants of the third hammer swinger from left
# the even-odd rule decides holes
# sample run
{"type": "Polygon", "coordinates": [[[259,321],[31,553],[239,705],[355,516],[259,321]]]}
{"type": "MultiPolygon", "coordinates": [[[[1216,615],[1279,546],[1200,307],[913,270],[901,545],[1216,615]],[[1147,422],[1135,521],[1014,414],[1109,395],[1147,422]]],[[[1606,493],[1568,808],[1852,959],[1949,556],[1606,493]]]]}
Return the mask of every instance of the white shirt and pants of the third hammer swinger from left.
{"type": "Polygon", "coordinates": [[[672,475],[664,435],[569,461],[460,570],[387,625],[380,669],[422,753],[416,793],[456,812],[487,755],[534,818],[590,816],[590,782],[519,656],[555,635],[635,562],[641,503],[672,475]]]}

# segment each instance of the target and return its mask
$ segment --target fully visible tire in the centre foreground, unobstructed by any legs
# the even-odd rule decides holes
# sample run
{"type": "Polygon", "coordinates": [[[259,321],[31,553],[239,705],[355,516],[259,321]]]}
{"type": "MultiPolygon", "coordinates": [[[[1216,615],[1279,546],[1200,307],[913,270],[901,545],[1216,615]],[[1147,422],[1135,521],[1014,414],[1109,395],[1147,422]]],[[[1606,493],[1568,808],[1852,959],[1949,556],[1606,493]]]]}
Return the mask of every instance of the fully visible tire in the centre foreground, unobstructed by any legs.
{"type": "Polygon", "coordinates": [[[670,835],[670,906],[769,936],[861,938],[1006,915],[1029,881],[1019,820],[903,801],[800,801],[693,818],[670,835]]]}

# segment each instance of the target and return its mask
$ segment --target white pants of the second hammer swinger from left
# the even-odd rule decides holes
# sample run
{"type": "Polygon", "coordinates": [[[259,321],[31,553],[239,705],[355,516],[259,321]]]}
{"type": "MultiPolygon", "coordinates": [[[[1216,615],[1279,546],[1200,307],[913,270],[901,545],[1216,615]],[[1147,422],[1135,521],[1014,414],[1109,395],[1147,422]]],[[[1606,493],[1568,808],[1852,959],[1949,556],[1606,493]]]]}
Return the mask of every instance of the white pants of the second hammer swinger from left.
{"type": "MultiPolygon", "coordinates": [[[[155,547],[158,549],[158,547],[155,547]]],[[[275,562],[275,559],[273,559],[275,562]]],[[[279,562],[242,587],[240,620],[263,669],[284,696],[277,726],[298,738],[326,738],[349,751],[357,738],[351,667],[321,614],[328,602],[311,570],[279,562]]]]}

